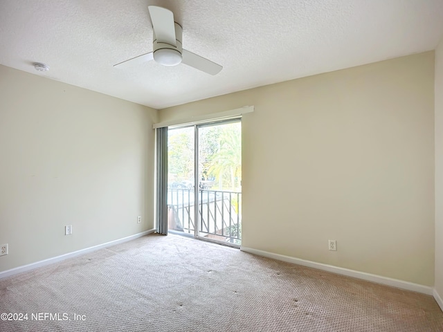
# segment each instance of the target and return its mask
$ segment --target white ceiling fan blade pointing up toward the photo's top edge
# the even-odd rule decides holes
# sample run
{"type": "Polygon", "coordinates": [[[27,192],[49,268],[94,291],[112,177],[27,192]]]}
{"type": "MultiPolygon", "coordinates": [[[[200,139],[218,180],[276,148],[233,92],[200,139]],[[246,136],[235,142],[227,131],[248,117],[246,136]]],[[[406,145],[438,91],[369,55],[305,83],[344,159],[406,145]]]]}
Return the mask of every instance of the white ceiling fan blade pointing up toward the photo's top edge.
{"type": "Polygon", "coordinates": [[[154,29],[155,37],[158,43],[166,43],[177,46],[175,42],[174,14],[163,7],[148,6],[154,29]]]}

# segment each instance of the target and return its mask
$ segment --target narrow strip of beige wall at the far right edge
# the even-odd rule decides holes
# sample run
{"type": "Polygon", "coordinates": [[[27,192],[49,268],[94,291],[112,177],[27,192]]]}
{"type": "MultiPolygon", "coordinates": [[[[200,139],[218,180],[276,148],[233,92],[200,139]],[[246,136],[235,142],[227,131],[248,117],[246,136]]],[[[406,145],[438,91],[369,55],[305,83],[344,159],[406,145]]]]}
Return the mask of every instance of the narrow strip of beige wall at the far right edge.
{"type": "Polygon", "coordinates": [[[443,40],[435,50],[435,291],[443,299],[443,40]]]}

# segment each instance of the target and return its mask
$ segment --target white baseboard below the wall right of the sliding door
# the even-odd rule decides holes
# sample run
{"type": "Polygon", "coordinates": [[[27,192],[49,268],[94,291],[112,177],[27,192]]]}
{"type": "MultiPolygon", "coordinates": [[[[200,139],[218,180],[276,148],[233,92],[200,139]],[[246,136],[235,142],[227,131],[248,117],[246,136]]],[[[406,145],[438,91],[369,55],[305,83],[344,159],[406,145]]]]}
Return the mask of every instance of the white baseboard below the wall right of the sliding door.
{"type": "MultiPolygon", "coordinates": [[[[253,255],[259,255],[259,256],[268,257],[268,258],[272,258],[272,259],[278,259],[279,261],[286,261],[288,263],[307,266],[309,268],[316,268],[318,270],[325,270],[327,272],[336,273],[338,275],[346,275],[347,277],[354,277],[354,278],[358,278],[358,279],[363,279],[368,282],[375,282],[377,284],[383,284],[383,285],[387,285],[387,286],[406,289],[408,291],[414,291],[417,293],[423,293],[426,295],[434,295],[434,296],[436,294],[436,292],[433,293],[432,287],[414,284],[413,282],[404,282],[403,280],[382,277],[381,275],[372,275],[371,273],[350,270],[347,268],[339,268],[337,266],[316,263],[315,261],[307,261],[305,259],[299,259],[299,258],[295,258],[295,257],[274,254],[273,252],[267,252],[267,251],[257,250],[257,249],[253,249],[253,248],[243,247],[243,246],[240,247],[240,250],[242,250],[244,252],[249,252],[253,255]]],[[[437,300],[437,302],[438,302],[438,300],[437,300]]],[[[440,306],[441,306],[441,304],[440,304],[440,306]]]]}

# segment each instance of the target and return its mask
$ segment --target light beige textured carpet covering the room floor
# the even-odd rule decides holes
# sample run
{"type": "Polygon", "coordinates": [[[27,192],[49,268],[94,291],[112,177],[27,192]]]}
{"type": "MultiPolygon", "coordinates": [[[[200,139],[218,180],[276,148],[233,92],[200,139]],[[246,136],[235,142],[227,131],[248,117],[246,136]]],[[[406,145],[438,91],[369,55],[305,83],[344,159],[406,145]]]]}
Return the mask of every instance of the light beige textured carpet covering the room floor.
{"type": "Polygon", "coordinates": [[[155,234],[0,280],[0,313],[28,313],[2,332],[443,331],[431,296],[155,234]]]}

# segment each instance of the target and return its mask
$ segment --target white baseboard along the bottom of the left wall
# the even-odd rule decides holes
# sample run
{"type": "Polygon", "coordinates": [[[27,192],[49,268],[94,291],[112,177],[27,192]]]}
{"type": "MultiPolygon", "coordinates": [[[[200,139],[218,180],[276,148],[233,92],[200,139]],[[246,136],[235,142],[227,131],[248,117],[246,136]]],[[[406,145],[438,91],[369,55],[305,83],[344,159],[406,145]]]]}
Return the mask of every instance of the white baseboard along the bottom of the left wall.
{"type": "Polygon", "coordinates": [[[99,250],[102,248],[107,248],[110,246],[115,246],[116,244],[131,241],[131,240],[137,239],[138,237],[144,237],[145,235],[151,234],[154,232],[155,232],[155,230],[146,230],[145,232],[137,233],[137,234],[131,235],[129,237],[123,237],[123,239],[109,241],[106,243],[99,244],[98,246],[84,248],[84,249],[77,250],[74,252],[69,252],[64,255],[44,259],[43,261],[36,261],[35,263],[27,264],[24,266],[19,266],[18,268],[11,268],[10,270],[0,272],[0,279],[10,277],[11,275],[17,275],[17,273],[26,272],[26,271],[33,270],[35,268],[39,268],[39,267],[46,266],[49,264],[54,264],[54,263],[57,263],[57,261],[64,261],[64,259],[84,255],[84,254],[87,254],[88,252],[91,252],[91,251],[99,250]]]}

